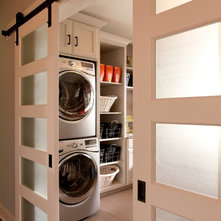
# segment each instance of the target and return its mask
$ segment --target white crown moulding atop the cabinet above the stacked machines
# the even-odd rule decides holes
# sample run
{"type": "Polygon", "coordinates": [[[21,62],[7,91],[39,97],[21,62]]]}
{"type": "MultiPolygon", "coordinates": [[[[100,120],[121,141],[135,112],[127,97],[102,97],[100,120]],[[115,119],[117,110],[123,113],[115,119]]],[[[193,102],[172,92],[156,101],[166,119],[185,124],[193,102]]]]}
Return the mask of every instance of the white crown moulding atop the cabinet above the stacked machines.
{"type": "Polygon", "coordinates": [[[97,28],[102,28],[108,24],[107,21],[83,14],[81,12],[70,17],[71,20],[78,21],[87,25],[92,25],[97,28]]]}

